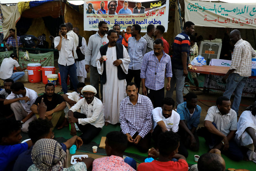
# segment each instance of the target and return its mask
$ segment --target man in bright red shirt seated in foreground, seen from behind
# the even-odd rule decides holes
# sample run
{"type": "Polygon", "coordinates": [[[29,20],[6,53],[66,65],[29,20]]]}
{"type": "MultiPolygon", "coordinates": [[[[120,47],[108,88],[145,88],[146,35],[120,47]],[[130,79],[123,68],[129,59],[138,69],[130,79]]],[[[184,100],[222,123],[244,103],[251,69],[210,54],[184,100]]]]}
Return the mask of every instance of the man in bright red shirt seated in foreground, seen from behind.
{"type": "Polygon", "coordinates": [[[162,132],[158,137],[159,152],[150,148],[148,157],[158,158],[150,163],[140,163],[137,171],[179,170],[188,171],[186,158],[178,154],[180,136],[172,131],[162,132]],[[173,161],[173,158],[176,161],[173,161]],[[178,161],[177,161],[178,160],[178,161]]]}

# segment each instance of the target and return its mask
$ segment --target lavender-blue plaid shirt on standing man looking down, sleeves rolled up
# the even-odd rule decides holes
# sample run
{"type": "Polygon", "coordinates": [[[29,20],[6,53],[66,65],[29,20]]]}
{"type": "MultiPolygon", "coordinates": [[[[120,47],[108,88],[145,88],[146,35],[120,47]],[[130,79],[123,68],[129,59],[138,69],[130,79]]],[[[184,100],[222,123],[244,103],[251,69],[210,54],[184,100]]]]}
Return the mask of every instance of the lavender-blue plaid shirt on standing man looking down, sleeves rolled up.
{"type": "Polygon", "coordinates": [[[160,62],[154,54],[154,51],[144,55],[140,78],[146,78],[145,86],[152,90],[160,90],[164,87],[164,72],[166,69],[166,77],[172,77],[171,57],[163,50],[163,57],[160,62]]]}

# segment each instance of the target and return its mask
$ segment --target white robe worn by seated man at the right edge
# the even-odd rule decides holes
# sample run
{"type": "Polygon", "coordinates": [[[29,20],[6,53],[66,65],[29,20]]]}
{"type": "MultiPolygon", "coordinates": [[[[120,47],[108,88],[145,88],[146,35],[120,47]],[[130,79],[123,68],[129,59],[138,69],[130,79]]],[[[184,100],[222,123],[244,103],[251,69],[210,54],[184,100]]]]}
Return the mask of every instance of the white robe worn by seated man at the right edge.
{"type": "Polygon", "coordinates": [[[248,127],[252,127],[256,135],[256,116],[253,116],[251,111],[246,110],[239,117],[235,140],[237,144],[249,148],[247,151],[248,159],[256,163],[256,153],[254,152],[253,141],[251,136],[245,130],[248,127]]]}

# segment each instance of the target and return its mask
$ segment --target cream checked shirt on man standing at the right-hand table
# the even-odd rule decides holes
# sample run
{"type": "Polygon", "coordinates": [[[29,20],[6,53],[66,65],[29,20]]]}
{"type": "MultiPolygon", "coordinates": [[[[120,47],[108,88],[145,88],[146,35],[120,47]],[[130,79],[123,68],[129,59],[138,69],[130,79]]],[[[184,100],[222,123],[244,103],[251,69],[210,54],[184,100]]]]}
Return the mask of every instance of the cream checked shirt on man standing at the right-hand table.
{"type": "Polygon", "coordinates": [[[252,74],[252,57],[256,56],[251,44],[243,39],[236,42],[233,51],[230,70],[235,69],[233,73],[237,73],[242,77],[249,77],[252,74]]]}

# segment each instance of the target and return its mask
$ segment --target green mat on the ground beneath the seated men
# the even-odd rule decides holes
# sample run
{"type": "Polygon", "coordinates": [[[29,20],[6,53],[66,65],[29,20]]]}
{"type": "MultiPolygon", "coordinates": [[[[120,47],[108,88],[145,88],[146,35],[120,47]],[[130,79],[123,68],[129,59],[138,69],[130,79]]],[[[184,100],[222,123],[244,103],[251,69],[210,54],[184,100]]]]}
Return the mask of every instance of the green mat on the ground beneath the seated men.
{"type": "MultiPolygon", "coordinates": [[[[88,153],[93,153],[92,152],[92,146],[96,145],[99,146],[100,145],[100,140],[101,137],[106,137],[107,133],[110,131],[120,131],[121,128],[118,124],[116,125],[108,125],[107,127],[104,126],[103,129],[100,131],[100,134],[98,136],[96,136],[91,143],[89,144],[83,144],[79,149],[77,149],[77,151],[80,152],[88,152],[88,153]]],[[[65,141],[67,141],[67,139],[71,138],[72,136],[70,135],[70,131],[68,127],[65,127],[61,130],[53,130],[55,138],[58,142],[63,143],[65,141]]],[[[77,135],[81,135],[81,132],[77,131],[77,135]]],[[[28,134],[22,133],[22,140],[28,139],[28,134]]],[[[152,147],[153,147],[153,140],[151,143],[152,147]]],[[[205,144],[205,140],[203,137],[199,137],[199,151],[198,152],[193,152],[188,150],[188,158],[187,158],[187,162],[190,165],[192,164],[196,164],[196,162],[194,161],[194,155],[202,155],[206,152],[209,151],[208,146],[205,144]]],[[[97,149],[97,153],[99,155],[106,155],[105,149],[103,148],[98,148],[97,149]]],[[[139,150],[137,148],[135,148],[134,146],[129,146],[124,153],[125,156],[128,157],[132,157],[133,159],[135,159],[137,162],[141,163],[144,162],[144,160],[146,159],[146,157],[148,156],[147,153],[141,153],[139,152],[139,150]]],[[[223,159],[226,162],[226,168],[243,168],[243,169],[248,169],[250,171],[255,171],[256,170],[256,164],[253,161],[233,161],[230,160],[228,157],[226,157],[225,155],[222,155],[223,159]]]]}

